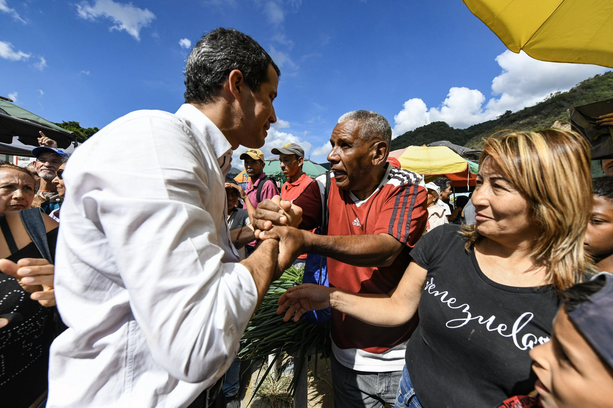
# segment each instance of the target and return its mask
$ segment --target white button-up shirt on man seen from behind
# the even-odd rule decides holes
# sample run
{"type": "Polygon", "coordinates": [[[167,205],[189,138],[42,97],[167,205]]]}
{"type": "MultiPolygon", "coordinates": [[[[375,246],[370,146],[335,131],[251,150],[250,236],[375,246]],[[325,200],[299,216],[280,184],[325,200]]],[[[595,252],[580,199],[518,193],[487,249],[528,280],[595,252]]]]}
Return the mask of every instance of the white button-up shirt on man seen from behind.
{"type": "Polygon", "coordinates": [[[192,105],[129,113],[75,149],[47,407],[185,407],[226,372],[257,303],[226,224],[231,154],[192,105]]]}

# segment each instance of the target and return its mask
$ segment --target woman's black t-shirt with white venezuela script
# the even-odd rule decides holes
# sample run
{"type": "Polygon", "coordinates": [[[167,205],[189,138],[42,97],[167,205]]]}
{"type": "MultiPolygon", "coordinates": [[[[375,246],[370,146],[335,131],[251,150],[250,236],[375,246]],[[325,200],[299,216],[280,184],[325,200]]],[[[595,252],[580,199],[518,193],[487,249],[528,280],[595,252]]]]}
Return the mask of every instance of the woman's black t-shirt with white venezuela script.
{"type": "Polygon", "coordinates": [[[428,271],[406,367],[424,408],[493,407],[534,390],[528,352],[549,341],[560,301],[552,286],[487,278],[459,225],[424,235],[411,256],[428,271]]]}

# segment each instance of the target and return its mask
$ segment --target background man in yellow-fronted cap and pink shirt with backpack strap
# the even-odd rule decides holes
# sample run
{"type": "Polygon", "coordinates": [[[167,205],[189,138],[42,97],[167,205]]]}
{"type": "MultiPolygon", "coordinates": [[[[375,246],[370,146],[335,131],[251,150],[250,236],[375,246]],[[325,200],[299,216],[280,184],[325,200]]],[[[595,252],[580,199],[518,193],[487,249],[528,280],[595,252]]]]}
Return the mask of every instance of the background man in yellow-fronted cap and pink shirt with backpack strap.
{"type": "MultiPolygon", "coordinates": [[[[249,149],[238,157],[245,162],[245,171],[249,179],[245,192],[253,208],[257,208],[257,203],[266,198],[273,198],[279,195],[275,182],[264,173],[264,153],[260,149],[249,149]]],[[[255,251],[257,241],[245,245],[245,257],[255,251]]]]}

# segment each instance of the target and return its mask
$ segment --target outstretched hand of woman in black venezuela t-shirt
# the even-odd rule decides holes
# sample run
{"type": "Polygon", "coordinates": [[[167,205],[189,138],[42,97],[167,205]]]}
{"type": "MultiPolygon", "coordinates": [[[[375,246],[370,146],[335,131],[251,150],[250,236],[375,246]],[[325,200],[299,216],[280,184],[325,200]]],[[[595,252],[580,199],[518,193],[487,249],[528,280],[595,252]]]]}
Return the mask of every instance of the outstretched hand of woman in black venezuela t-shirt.
{"type": "Polygon", "coordinates": [[[297,322],[305,312],[329,308],[330,299],[335,290],[335,288],[314,284],[291,287],[279,298],[277,302],[279,308],[276,309],[276,314],[281,314],[289,306],[283,316],[283,321],[287,322],[295,313],[294,322],[297,322]]]}

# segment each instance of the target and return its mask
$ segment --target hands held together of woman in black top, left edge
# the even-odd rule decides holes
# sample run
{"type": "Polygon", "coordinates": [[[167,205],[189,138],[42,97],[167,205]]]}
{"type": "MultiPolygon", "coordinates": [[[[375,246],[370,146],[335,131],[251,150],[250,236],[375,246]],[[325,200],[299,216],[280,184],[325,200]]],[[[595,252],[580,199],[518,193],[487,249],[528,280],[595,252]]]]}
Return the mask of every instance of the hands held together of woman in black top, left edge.
{"type": "Polygon", "coordinates": [[[23,258],[12,262],[0,259],[0,271],[17,279],[23,290],[31,293],[30,298],[45,308],[55,306],[53,276],[55,266],[46,259],[23,258]]]}

